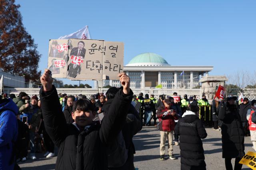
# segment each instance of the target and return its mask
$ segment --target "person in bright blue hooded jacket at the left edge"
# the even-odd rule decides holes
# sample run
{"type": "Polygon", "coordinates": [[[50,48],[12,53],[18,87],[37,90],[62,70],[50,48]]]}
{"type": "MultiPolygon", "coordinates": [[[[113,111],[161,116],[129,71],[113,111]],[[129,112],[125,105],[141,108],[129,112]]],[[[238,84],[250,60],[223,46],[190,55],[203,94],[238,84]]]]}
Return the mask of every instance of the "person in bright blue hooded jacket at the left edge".
{"type": "Polygon", "coordinates": [[[0,170],[13,170],[16,163],[14,142],[18,137],[18,111],[12,99],[0,97],[0,170]]]}

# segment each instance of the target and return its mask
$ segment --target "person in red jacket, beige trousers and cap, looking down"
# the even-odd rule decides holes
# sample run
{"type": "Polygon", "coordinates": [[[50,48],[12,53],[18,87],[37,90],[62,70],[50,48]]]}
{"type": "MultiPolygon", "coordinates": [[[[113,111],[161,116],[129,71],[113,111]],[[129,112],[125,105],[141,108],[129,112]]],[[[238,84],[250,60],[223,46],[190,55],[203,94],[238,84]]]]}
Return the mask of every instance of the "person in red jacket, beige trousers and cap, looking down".
{"type": "Polygon", "coordinates": [[[159,130],[160,130],[160,160],[164,160],[165,142],[168,138],[168,154],[170,159],[176,159],[172,153],[172,137],[174,134],[175,121],[178,120],[178,116],[171,110],[172,103],[170,99],[164,99],[164,106],[159,107],[156,115],[159,118],[159,130]]]}

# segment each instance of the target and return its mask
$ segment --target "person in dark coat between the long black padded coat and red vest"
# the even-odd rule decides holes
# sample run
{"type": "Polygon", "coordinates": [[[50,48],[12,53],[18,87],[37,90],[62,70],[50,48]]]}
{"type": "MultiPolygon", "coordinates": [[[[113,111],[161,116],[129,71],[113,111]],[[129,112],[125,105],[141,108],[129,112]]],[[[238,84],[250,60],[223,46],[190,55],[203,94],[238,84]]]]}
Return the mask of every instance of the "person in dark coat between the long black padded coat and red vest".
{"type": "Polygon", "coordinates": [[[244,134],[248,136],[250,134],[250,131],[248,130],[248,121],[246,119],[247,111],[248,109],[251,109],[251,103],[249,102],[248,98],[244,98],[243,103],[239,105],[239,115],[241,117],[244,134]]]}

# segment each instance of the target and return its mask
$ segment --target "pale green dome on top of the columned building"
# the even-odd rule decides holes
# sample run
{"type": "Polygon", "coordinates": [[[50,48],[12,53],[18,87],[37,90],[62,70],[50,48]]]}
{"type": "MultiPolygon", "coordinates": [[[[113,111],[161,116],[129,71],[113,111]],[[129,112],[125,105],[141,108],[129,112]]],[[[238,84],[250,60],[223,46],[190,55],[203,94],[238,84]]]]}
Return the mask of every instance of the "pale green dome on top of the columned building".
{"type": "Polygon", "coordinates": [[[167,66],[167,61],[155,53],[142,53],[135,56],[126,66],[167,66]]]}

